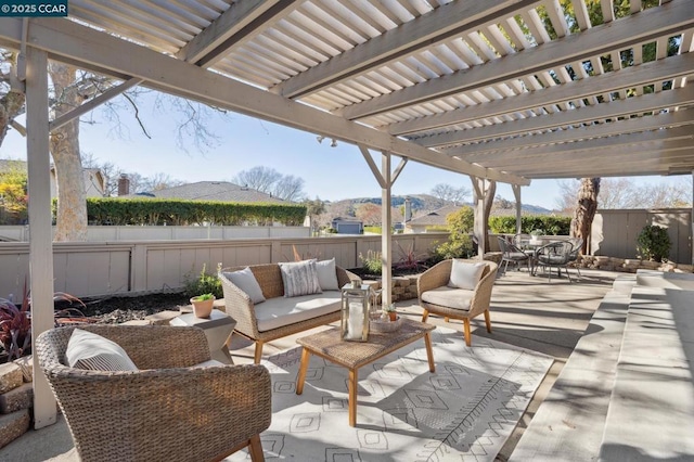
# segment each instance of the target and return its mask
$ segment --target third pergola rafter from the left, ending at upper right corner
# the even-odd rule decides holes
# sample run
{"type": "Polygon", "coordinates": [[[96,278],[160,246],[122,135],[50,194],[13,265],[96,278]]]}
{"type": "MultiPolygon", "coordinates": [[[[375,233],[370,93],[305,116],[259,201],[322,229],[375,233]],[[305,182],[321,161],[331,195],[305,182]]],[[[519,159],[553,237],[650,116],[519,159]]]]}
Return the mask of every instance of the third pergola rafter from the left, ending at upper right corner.
{"type": "Polygon", "coordinates": [[[422,104],[465,91],[502,84],[514,78],[550,70],[575,61],[600,56],[614,49],[627,49],[655,38],[680,35],[694,27],[694,8],[690,0],[673,0],[667,5],[653,8],[595,26],[580,35],[553,40],[523,53],[509,54],[485,65],[459,70],[427,80],[393,93],[352,104],[337,111],[348,119],[358,119],[398,108],[422,104]]]}

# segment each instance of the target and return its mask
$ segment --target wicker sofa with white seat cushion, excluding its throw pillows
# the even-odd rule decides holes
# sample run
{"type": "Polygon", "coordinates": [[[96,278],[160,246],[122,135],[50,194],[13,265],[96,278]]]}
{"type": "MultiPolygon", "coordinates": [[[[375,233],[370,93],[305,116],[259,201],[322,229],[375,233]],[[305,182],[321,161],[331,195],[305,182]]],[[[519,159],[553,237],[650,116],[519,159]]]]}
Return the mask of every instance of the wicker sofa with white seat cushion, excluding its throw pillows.
{"type": "MultiPolygon", "coordinates": [[[[282,272],[278,264],[250,265],[250,271],[260,284],[266,300],[254,304],[245,292],[227,277],[226,272],[239,271],[246,267],[223,268],[219,280],[224,292],[227,313],[236,321],[234,332],[256,344],[255,362],[262,357],[266,342],[296,334],[338,321],[340,318],[340,292],[323,291],[320,294],[284,297],[282,272]]],[[[337,286],[349,283],[357,275],[335,267],[337,286]]]]}

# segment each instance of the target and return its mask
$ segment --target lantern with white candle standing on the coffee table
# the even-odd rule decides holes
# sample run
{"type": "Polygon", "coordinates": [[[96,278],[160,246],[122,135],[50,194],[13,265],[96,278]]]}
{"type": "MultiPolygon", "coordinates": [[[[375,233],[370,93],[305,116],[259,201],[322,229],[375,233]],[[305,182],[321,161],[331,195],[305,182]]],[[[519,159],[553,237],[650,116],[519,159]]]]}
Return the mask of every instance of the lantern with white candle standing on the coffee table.
{"type": "Polygon", "coordinates": [[[342,288],[340,334],[344,341],[367,342],[369,339],[369,311],[371,286],[352,281],[342,288]]]}

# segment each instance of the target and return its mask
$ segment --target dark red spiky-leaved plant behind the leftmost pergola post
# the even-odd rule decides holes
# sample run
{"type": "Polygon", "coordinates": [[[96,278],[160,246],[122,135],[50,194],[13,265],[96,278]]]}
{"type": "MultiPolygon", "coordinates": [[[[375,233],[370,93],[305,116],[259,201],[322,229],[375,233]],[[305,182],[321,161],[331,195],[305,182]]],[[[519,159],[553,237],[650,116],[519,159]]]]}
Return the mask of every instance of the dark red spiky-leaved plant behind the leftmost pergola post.
{"type": "MultiPolygon", "coordinates": [[[[53,300],[78,303],[82,307],[85,306],[82,300],[64,292],[53,294],[53,300]]],[[[85,315],[76,308],[54,311],[55,325],[60,324],[59,319],[73,315],[85,318],[85,315]]],[[[26,284],[24,284],[21,306],[17,307],[10,299],[0,298],[0,343],[8,354],[8,361],[31,352],[31,299],[27,293],[26,284]]]]}

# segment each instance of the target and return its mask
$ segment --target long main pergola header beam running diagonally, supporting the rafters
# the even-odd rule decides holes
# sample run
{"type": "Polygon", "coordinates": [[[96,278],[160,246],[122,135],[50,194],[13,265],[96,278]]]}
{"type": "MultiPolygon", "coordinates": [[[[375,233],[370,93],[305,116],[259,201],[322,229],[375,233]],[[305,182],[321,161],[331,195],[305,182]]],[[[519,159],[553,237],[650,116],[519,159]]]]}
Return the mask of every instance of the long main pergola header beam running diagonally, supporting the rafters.
{"type": "MultiPolygon", "coordinates": [[[[21,24],[21,20],[14,17],[0,17],[0,39],[18,46],[21,24]]],[[[46,50],[56,61],[67,61],[85,69],[111,69],[117,75],[125,73],[145,80],[143,86],[182,98],[354,144],[363,144],[450,171],[529,184],[525,178],[445,158],[439,153],[388,133],[231,80],[68,20],[34,18],[29,27],[29,41],[46,50]]]]}

